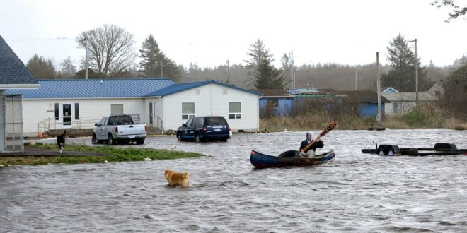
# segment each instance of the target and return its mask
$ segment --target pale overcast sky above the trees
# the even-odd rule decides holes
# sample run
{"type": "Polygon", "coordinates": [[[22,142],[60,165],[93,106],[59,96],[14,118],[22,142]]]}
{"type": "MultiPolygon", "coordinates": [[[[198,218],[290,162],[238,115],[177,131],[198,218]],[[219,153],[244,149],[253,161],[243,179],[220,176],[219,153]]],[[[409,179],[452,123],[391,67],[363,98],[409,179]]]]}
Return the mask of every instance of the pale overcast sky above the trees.
{"type": "MultiPolygon", "coordinates": [[[[245,64],[258,38],[275,55],[294,51],[297,65],[386,63],[399,33],[418,40],[422,64],[452,64],[467,54],[467,20],[445,23],[449,8],[430,0],[329,1],[100,1],[0,0],[0,35],[26,63],[33,54],[58,66],[84,56],[74,38],[115,24],[134,35],[135,49],[149,34],[178,64],[245,64]],[[62,38],[62,39],[57,39],[62,38]]],[[[467,0],[457,0],[467,6],[467,0]]]]}

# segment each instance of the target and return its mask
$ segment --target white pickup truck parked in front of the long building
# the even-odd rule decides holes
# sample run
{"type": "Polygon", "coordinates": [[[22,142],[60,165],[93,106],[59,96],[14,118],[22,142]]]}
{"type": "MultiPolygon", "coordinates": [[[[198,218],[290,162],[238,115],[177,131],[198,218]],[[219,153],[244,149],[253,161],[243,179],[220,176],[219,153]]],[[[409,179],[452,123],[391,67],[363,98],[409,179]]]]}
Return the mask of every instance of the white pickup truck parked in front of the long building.
{"type": "Polygon", "coordinates": [[[145,124],[134,124],[130,115],[110,115],[94,124],[93,144],[107,141],[108,145],[136,142],[143,144],[147,136],[145,124]]]}

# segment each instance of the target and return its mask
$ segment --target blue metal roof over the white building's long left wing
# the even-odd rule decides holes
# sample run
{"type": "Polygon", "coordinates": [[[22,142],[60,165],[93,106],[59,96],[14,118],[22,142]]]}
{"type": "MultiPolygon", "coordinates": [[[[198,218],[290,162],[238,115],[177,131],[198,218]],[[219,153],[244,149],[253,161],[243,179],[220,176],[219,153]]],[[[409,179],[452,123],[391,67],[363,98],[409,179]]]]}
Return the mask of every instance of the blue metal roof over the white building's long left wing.
{"type": "Polygon", "coordinates": [[[145,95],[173,85],[170,79],[54,79],[38,80],[36,90],[7,90],[8,95],[23,94],[24,99],[50,98],[125,98],[145,95]]]}

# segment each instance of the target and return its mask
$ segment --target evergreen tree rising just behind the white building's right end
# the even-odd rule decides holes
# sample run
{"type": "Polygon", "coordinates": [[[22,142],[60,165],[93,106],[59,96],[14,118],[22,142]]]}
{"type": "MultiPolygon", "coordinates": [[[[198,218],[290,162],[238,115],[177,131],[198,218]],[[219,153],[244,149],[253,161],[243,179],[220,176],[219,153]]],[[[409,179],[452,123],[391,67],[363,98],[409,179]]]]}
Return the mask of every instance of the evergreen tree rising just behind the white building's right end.
{"type": "Polygon", "coordinates": [[[246,61],[248,76],[254,78],[254,88],[260,89],[284,89],[284,76],[281,71],[272,65],[272,54],[265,49],[263,41],[258,39],[251,44],[248,56],[250,60],[246,61]]]}

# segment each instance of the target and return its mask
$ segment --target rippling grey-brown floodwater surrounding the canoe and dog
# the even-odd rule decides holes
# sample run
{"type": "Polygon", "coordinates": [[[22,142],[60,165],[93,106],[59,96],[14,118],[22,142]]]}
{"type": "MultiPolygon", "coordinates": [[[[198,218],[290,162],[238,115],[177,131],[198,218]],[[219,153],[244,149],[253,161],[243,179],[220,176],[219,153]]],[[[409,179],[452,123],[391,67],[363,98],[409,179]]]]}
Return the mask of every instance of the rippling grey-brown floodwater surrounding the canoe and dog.
{"type": "Polygon", "coordinates": [[[304,138],[305,132],[234,134],[227,143],[197,144],[154,136],[131,146],[207,156],[4,167],[0,231],[467,232],[467,155],[361,153],[374,143],[428,148],[449,142],[467,148],[467,131],[334,130],[323,137],[321,149],[335,149],[333,162],[272,169],[250,165],[251,149],[278,155],[298,149],[304,138]],[[190,172],[192,186],[167,186],[165,169],[190,172]]]}

